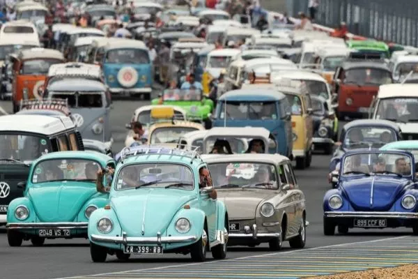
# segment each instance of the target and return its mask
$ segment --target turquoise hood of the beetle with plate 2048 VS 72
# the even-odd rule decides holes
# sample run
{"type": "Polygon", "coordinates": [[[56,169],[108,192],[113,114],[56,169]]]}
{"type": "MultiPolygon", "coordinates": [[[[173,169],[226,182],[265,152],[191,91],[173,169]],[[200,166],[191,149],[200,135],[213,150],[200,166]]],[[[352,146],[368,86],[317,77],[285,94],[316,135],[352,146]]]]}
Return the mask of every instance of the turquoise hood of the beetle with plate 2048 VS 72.
{"type": "Polygon", "coordinates": [[[28,190],[40,222],[73,222],[88,199],[97,195],[93,183],[60,182],[56,186],[39,185],[28,190]]]}

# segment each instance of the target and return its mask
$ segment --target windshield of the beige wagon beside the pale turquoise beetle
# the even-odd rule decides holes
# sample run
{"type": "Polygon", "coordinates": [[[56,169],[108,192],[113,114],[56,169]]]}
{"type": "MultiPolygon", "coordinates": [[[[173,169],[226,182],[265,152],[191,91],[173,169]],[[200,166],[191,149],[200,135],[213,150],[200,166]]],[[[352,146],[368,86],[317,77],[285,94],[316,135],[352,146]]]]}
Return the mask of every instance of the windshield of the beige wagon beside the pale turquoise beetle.
{"type": "Polygon", "coordinates": [[[208,165],[215,188],[261,188],[277,190],[274,165],[268,163],[212,163],[208,165]]]}

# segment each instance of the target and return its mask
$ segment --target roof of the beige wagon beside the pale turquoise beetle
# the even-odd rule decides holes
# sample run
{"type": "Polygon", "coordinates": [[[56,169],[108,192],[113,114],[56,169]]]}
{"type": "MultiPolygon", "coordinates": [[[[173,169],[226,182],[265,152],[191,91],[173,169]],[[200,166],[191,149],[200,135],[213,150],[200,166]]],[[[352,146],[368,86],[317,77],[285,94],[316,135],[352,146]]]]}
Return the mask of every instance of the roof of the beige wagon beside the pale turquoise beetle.
{"type": "Polygon", "coordinates": [[[248,162],[248,163],[268,163],[277,165],[279,163],[290,161],[287,157],[280,154],[265,154],[265,153],[238,153],[238,154],[202,154],[203,161],[208,163],[234,163],[234,162],[248,162]]]}

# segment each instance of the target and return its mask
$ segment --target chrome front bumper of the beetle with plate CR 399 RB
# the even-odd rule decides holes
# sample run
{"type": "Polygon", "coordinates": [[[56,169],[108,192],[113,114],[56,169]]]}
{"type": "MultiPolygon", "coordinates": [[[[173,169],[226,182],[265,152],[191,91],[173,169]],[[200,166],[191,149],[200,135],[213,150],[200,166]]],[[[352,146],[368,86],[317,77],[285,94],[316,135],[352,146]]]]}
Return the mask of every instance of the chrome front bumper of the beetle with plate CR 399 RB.
{"type": "Polygon", "coordinates": [[[162,243],[182,243],[196,241],[197,236],[148,236],[148,237],[135,237],[135,236],[126,236],[124,232],[122,236],[101,236],[97,234],[91,235],[92,241],[104,242],[104,243],[122,243],[122,244],[157,244],[161,245],[162,243]]]}

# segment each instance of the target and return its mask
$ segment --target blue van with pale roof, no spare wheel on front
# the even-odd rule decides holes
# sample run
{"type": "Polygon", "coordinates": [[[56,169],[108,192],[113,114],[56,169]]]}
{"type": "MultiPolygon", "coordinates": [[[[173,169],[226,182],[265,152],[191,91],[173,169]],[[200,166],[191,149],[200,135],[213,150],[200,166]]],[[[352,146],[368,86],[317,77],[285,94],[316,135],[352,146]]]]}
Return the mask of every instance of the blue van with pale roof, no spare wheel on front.
{"type": "MultiPolygon", "coordinates": [[[[291,107],[284,93],[273,89],[260,89],[251,84],[247,89],[233,90],[218,98],[213,127],[262,127],[269,131],[275,142],[270,153],[293,158],[291,107]],[[256,92],[256,94],[254,94],[256,92]]],[[[261,134],[252,134],[261,135],[261,134]]],[[[269,153],[266,151],[266,153],[269,153]]]]}

